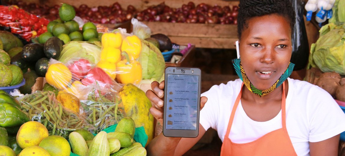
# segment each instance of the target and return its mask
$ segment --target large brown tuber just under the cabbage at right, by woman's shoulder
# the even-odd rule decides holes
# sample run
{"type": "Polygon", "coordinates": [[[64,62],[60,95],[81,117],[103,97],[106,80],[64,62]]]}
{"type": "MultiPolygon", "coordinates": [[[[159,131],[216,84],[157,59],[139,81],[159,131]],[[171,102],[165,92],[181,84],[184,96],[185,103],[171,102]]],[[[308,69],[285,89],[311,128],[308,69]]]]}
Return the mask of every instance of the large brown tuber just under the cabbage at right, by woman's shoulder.
{"type": "Polygon", "coordinates": [[[341,76],[335,72],[327,72],[320,75],[316,85],[327,91],[333,97],[340,86],[341,76]]]}

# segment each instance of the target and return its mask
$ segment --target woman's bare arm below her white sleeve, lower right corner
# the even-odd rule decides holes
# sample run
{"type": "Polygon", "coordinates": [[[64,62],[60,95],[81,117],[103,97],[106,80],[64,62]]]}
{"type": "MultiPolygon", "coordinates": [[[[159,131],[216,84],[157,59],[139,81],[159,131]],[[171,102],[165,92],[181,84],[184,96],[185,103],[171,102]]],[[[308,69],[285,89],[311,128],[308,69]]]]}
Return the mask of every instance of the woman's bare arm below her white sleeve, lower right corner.
{"type": "Polygon", "coordinates": [[[311,156],[337,156],[340,134],[321,142],[309,142],[311,156]]]}

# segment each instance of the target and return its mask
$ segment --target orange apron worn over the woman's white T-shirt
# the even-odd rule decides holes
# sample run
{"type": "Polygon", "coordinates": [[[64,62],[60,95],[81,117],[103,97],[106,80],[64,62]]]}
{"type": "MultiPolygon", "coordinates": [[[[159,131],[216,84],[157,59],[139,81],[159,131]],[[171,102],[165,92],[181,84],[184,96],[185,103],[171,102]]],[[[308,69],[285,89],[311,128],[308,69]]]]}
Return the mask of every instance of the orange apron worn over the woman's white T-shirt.
{"type": "Polygon", "coordinates": [[[253,142],[237,144],[231,142],[229,133],[234,121],[235,112],[242,96],[242,87],[239,92],[233,110],[230,115],[228,128],[221,146],[221,156],[297,156],[290,137],[286,130],[285,122],[285,83],[283,83],[282,95],[282,127],[265,134],[253,142]]]}

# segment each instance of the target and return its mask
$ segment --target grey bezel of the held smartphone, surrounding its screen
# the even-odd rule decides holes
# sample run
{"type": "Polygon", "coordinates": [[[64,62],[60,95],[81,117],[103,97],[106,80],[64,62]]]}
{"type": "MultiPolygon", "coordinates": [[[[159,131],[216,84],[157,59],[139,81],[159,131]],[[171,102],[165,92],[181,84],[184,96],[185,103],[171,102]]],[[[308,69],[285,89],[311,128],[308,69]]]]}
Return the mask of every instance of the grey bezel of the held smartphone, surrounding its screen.
{"type": "Polygon", "coordinates": [[[201,70],[197,67],[166,67],[164,74],[164,114],[163,114],[163,135],[166,137],[189,137],[195,138],[199,135],[199,115],[200,115],[200,92],[201,92],[201,70]],[[175,72],[173,72],[175,70],[175,72]],[[185,70],[185,73],[182,73],[181,70],[185,70]],[[191,71],[194,73],[191,73],[191,71]],[[166,111],[167,111],[167,76],[168,74],[179,74],[179,75],[199,75],[198,81],[198,102],[197,102],[197,126],[196,130],[179,130],[179,129],[165,129],[166,124],[166,111]]]}

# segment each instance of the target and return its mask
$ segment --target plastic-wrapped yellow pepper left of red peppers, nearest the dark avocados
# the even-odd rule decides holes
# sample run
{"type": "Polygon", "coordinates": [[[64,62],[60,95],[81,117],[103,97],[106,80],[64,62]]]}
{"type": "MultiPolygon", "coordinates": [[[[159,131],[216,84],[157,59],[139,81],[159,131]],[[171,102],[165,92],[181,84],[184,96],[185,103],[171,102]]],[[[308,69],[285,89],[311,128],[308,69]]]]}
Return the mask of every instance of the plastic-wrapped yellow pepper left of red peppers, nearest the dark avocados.
{"type": "Polygon", "coordinates": [[[62,63],[49,65],[46,73],[46,81],[57,89],[65,89],[72,80],[72,73],[62,63]]]}

